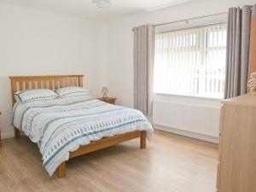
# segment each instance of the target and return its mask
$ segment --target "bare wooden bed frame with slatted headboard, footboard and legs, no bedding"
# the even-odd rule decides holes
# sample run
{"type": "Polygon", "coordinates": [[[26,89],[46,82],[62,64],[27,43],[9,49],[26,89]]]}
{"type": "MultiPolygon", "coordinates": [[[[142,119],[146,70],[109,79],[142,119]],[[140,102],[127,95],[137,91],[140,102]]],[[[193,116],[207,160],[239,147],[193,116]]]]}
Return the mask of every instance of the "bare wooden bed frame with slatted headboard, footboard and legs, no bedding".
{"type": "MultiPolygon", "coordinates": [[[[15,104],[14,93],[18,90],[27,89],[50,89],[55,90],[61,87],[79,86],[83,87],[84,75],[54,75],[54,76],[12,76],[11,81],[12,102],[15,104]]],[[[21,131],[15,127],[15,137],[19,138],[21,131]]],[[[131,131],[113,137],[104,137],[101,140],[80,146],[78,150],[69,154],[69,159],[88,154],[101,148],[108,148],[118,143],[123,143],[134,138],[140,138],[140,148],[146,148],[146,131],[131,131]]],[[[66,176],[66,162],[61,163],[57,169],[58,177],[66,176]]]]}

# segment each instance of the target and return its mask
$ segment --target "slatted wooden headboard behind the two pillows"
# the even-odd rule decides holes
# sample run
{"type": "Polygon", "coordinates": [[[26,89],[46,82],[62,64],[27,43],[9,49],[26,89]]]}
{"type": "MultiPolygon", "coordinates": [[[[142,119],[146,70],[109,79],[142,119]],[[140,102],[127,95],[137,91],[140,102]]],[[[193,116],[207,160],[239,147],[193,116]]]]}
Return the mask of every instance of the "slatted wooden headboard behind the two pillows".
{"type": "Polygon", "coordinates": [[[15,104],[14,93],[18,90],[50,89],[55,90],[68,86],[83,86],[84,75],[50,75],[50,76],[11,76],[12,101],[15,104]]]}

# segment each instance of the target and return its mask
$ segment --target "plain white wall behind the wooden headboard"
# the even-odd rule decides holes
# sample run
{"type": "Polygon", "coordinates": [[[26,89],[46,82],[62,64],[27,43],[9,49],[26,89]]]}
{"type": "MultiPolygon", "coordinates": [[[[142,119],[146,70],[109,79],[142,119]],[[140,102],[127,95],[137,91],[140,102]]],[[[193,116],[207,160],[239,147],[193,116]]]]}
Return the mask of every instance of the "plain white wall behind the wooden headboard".
{"type": "Polygon", "coordinates": [[[10,125],[9,76],[84,74],[85,86],[100,95],[107,60],[107,26],[0,3],[0,127],[10,125]]]}

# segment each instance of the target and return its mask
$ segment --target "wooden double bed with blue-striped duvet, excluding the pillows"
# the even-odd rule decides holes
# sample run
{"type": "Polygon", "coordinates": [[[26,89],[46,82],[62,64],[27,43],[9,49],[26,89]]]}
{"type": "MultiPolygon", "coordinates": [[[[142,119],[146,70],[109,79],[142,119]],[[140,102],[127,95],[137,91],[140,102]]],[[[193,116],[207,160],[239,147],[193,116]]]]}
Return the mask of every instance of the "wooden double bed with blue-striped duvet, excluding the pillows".
{"type": "Polygon", "coordinates": [[[83,87],[83,75],[14,76],[11,81],[15,137],[23,133],[37,143],[43,166],[52,176],[66,176],[66,161],[82,154],[146,137],[153,128],[143,113],[96,100],[93,96],[71,96],[50,100],[15,102],[18,90],[83,87]]]}

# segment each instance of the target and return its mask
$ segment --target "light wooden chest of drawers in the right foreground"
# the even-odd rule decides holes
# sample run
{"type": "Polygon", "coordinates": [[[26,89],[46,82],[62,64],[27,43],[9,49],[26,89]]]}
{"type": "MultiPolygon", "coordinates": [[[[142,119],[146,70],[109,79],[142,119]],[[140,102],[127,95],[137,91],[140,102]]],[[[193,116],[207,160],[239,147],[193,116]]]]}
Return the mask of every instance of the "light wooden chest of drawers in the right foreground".
{"type": "Polygon", "coordinates": [[[223,103],[217,191],[256,192],[256,96],[223,103]]]}

